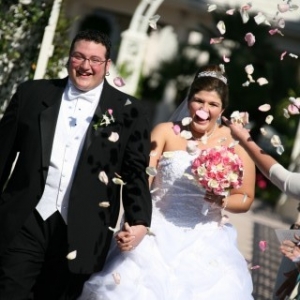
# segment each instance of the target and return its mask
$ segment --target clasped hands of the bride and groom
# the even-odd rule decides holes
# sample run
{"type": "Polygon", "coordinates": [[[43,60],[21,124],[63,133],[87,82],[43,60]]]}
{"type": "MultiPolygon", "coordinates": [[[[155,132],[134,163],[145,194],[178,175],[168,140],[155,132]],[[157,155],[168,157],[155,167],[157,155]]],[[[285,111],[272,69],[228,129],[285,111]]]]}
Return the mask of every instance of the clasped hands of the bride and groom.
{"type": "Polygon", "coordinates": [[[131,251],[138,246],[146,233],[147,228],[144,225],[129,226],[126,222],[115,239],[121,251],[131,251]]]}

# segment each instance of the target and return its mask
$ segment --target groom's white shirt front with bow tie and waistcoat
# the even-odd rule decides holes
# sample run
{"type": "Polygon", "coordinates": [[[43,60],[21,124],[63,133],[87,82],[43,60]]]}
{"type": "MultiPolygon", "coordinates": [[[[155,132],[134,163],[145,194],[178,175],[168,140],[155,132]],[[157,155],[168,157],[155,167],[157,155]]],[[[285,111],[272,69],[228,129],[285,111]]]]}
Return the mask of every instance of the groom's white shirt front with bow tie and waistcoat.
{"type": "Polygon", "coordinates": [[[67,223],[70,188],[87,128],[94,116],[103,83],[88,92],[66,86],[58,114],[45,190],[36,206],[46,220],[59,211],[67,223]]]}

